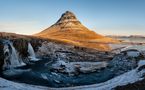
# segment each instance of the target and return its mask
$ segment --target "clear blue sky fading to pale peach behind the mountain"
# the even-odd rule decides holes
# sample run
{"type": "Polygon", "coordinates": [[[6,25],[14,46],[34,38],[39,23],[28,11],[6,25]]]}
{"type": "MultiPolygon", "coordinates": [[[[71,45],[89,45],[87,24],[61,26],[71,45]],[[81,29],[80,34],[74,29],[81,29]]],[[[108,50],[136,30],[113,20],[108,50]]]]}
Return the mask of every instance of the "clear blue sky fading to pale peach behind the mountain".
{"type": "Polygon", "coordinates": [[[103,35],[145,35],[145,0],[0,0],[0,32],[32,35],[65,11],[103,35]]]}

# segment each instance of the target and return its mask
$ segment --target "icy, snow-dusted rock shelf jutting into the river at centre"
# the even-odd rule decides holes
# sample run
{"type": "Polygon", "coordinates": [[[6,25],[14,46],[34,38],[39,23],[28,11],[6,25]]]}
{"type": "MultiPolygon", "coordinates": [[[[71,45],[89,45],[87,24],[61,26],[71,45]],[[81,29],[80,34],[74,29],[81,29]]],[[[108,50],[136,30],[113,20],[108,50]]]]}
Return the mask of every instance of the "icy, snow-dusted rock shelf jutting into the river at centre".
{"type": "Polygon", "coordinates": [[[106,62],[68,62],[65,64],[62,64],[61,62],[58,61],[53,64],[52,69],[57,70],[61,73],[67,73],[69,75],[95,72],[97,70],[107,67],[106,62]]]}

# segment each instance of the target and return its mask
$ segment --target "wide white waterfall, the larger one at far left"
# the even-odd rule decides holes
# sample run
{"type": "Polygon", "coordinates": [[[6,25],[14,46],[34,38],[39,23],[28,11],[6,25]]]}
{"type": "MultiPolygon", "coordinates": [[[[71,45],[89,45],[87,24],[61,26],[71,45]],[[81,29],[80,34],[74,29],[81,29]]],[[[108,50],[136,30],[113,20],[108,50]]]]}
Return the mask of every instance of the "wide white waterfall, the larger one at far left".
{"type": "Polygon", "coordinates": [[[19,59],[17,51],[11,42],[6,42],[3,50],[5,55],[4,68],[14,68],[25,65],[25,63],[19,59]]]}

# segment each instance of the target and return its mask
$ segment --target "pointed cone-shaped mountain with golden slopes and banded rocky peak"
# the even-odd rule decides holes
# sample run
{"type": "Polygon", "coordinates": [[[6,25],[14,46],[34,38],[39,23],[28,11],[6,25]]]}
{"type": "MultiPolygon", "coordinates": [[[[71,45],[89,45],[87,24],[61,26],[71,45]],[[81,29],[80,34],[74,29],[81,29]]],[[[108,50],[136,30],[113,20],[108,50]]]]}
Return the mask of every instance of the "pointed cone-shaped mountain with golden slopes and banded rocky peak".
{"type": "Polygon", "coordinates": [[[55,24],[42,32],[35,34],[35,36],[99,50],[109,50],[109,47],[107,45],[98,44],[98,42],[117,42],[116,40],[89,30],[82,25],[74,13],[70,11],[63,13],[61,18],[55,24]]]}

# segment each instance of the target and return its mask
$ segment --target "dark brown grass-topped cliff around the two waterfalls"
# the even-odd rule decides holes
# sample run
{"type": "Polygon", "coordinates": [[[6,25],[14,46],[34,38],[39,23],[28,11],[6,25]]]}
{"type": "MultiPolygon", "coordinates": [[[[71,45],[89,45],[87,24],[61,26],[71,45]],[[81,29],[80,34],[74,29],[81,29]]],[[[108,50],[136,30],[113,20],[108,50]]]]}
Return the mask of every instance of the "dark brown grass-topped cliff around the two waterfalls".
{"type": "Polygon", "coordinates": [[[28,42],[30,42],[33,47],[35,47],[35,51],[38,49],[39,46],[41,46],[41,42],[48,41],[48,39],[41,39],[38,37],[33,36],[26,36],[26,35],[19,35],[14,33],[0,33],[0,72],[2,72],[2,66],[4,64],[4,59],[6,56],[4,55],[4,42],[10,41],[14,48],[17,51],[17,54],[20,58],[27,58],[29,56],[28,53],[28,42]]]}

